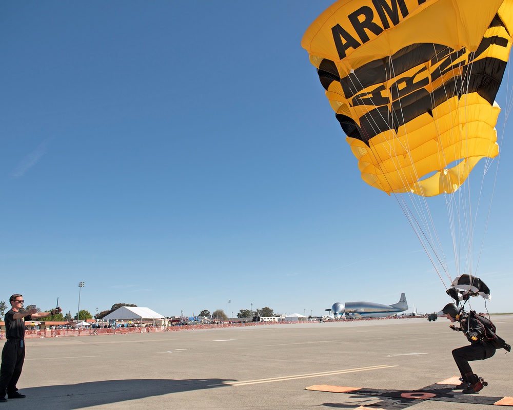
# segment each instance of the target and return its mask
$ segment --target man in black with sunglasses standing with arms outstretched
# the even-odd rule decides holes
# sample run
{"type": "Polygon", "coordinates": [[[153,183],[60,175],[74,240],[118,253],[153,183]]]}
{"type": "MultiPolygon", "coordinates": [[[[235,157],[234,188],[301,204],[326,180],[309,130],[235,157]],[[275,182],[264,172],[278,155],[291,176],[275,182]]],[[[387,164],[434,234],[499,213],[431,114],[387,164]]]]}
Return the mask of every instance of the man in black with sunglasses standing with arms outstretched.
{"type": "Polygon", "coordinates": [[[23,399],[24,394],[18,393],[16,383],[22,373],[23,360],[25,359],[25,318],[36,319],[47,317],[61,312],[60,308],[51,312],[37,312],[31,309],[28,312],[19,312],[23,307],[23,296],[12,295],[9,298],[11,310],[5,314],[5,336],[6,342],[2,351],[2,365],[0,366],[0,402],[7,399],[23,399]]]}

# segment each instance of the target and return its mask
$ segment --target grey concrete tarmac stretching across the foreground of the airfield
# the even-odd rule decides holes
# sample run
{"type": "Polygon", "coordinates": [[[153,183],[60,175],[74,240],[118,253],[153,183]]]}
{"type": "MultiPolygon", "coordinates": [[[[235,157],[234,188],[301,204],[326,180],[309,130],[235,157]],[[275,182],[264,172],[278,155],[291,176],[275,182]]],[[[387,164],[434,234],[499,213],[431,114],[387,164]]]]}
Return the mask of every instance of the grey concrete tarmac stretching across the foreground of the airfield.
{"type": "MultiPolygon", "coordinates": [[[[498,334],[512,344],[513,315],[492,320],[498,334]]],[[[18,382],[27,398],[0,407],[358,408],[378,400],[305,388],[327,384],[415,390],[457,375],[451,350],[467,341],[448,326],[445,318],[411,318],[28,339],[18,382]]],[[[385,407],[369,408],[484,410],[498,407],[474,404],[481,397],[513,396],[513,353],[500,350],[473,363],[489,385],[471,403],[418,399],[393,404],[389,399],[381,402],[385,407]]]]}

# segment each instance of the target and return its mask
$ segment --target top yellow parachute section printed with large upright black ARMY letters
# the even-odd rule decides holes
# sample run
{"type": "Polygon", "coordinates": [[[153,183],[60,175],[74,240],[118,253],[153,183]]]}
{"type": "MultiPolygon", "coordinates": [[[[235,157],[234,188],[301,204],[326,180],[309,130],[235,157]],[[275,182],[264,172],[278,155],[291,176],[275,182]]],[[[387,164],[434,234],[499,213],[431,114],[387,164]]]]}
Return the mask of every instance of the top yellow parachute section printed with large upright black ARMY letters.
{"type": "Polygon", "coordinates": [[[421,2],[422,0],[387,0],[391,10],[396,6],[393,10],[395,13],[390,13],[385,6],[379,10],[376,7],[384,2],[339,0],[315,19],[303,35],[301,45],[310,54],[311,63],[315,67],[319,68],[321,59],[328,58],[340,63],[338,67],[341,75],[374,59],[392,55],[411,44],[436,43],[455,50],[466,47],[475,51],[503,0],[421,2]],[[406,8],[406,16],[400,10],[401,4],[406,8]],[[384,19],[394,30],[386,30],[380,12],[386,14],[384,19]],[[398,24],[392,25],[390,14],[397,18],[398,24]],[[361,24],[362,20],[368,24],[361,24]],[[346,49],[344,57],[340,56],[340,50],[333,42],[332,28],[337,25],[347,33],[347,39],[354,40],[351,43],[359,45],[346,49]],[[377,32],[381,28],[381,32],[374,34],[367,26],[377,32]]]}

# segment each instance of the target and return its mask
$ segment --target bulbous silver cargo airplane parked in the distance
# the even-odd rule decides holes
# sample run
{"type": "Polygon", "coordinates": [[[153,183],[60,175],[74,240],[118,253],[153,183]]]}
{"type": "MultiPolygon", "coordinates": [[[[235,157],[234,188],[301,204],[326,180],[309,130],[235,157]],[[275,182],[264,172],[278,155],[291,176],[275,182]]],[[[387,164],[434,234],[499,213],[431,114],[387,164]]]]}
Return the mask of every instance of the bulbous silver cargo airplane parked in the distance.
{"type": "Polygon", "coordinates": [[[326,312],[332,312],[335,319],[340,319],[342,315],[349,319],[358,319],[393,316],[407,309],[406,296],[401,293],[401,299],[398,303],[386,305],[373,302],[347,302],[344,306],[343,303],[337,302],[333,303],[331,309],[326,309],[326,312]]]}

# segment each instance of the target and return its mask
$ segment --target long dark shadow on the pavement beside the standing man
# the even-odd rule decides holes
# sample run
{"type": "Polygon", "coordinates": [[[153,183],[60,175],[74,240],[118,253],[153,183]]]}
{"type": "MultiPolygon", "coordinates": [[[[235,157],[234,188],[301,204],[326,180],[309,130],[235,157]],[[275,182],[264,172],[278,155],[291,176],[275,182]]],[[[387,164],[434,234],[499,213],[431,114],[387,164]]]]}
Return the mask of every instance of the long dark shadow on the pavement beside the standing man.
{"type": "Polygon", "coordinates": [[[11,408],[9,404],[15,403],[17,408],[23,405],[25,408],[33,407],[40,410],[44,408],[73,410],[171,393],[226,387],[229,384],[225,383],[229,381],[234,380],[128,379],[21,388],[19,392],[27,395],[27,398],[8,400],[7,403],[3,403],[3,407],[11,408]]]}

